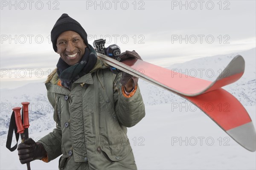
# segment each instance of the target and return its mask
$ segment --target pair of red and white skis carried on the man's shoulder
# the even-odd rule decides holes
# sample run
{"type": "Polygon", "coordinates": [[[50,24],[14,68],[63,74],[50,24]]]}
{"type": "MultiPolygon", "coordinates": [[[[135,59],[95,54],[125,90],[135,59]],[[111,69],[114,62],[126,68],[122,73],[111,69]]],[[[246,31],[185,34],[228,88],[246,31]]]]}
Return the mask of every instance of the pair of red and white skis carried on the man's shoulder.
{"type": "Polygon", "coordinates": [[[195,104],[244,148],[256,150],[252,120],[241,103],[221,87],[236,82],[244,73],[244,59],[234,57],[214,81],[189,77],[151,63],[127,59],[119,62],[97,53],[106,64],[172,91],[195,104]]]}

